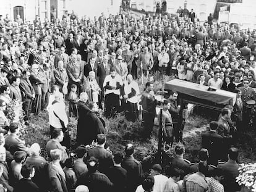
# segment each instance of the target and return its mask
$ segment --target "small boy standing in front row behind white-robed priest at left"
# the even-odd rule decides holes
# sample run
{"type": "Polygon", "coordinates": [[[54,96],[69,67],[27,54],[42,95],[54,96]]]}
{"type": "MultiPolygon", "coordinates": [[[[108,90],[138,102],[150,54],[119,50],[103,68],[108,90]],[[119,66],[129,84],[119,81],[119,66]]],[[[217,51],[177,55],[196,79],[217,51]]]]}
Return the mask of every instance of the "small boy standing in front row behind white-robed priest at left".
{"type": "Polygon", "coordinates": [[[69,117],[75,117],[75,119],[77,119],[77,114],[78,114],[77,102],[78,102],[77,85],[72,84],[71,91],[69,93],[69,117]]]}

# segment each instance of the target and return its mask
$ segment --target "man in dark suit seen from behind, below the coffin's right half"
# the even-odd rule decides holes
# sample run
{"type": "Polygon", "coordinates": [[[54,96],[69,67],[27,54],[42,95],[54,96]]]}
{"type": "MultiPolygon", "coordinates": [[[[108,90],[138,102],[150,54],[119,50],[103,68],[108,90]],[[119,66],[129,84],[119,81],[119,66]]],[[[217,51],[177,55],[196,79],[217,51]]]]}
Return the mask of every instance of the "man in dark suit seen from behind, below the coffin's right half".
{"type": "Polygon", "coordinates": [[[202,148],[208,149],[208,164],[217,165],[221,159],[221,146],[223,145],[223,136],[216,133],[217,122],[210,122],[210,131],[202,133],[202,148]]]}

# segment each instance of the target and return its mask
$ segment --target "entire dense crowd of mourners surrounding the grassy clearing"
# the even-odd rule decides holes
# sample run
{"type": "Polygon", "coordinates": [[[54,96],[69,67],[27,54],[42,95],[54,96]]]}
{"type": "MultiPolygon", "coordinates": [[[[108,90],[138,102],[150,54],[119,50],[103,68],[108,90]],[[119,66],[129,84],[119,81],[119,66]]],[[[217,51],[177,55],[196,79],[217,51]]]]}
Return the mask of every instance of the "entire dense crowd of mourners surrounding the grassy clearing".
{"type": "MultiPolygon", "coordinates": [[[[239,191],[238,151],[232,146],[237,131],[254,123],[248,109],[255,105],[256,30],[217,25],[211,17],[200,22],[192,15],[182,9],[177,17],[102,14],[91,20],[72,13],[62,20],[36,15],[31,23],[0,15],[0,190],[239,191]],[[183,159],[184,146],[175,146],[165,172],[169,178],[159,164],[144,170],[150,172],[145,177],[132,144],[125,146],[125,156],[112,152],[97,114],[99,108],[106,118],[124,111],[135,121],[140,104],[142,138],[150,138],[156,116],[153,82],[141,93],[137,80],[154,72],[237,93],[236,104],[224,107],[202,135],[200,162],[190,164],[183,159]],[[31,114],[48,111],[49,159],[40,156],[38,144],[28,148],[19,138],[19,124],[4,114],[14,100],[22,102],[27,123],[31,114]],[[68,116],[78,121],[76,157],[67,153],[68,116]]],[[[179,106],[177,96],[175,90],[168,93],[158,116],[169,146],[182,141],[187,120],[186,105],[179,106]]]]}

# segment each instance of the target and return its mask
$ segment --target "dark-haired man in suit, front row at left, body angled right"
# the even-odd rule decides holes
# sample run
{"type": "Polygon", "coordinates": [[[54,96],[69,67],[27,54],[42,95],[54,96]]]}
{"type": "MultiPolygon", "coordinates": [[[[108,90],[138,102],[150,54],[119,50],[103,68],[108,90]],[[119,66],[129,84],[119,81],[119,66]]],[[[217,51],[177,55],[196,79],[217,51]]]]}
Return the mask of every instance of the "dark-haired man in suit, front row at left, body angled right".
{"type": "Polygon", "coordinates": [[[32,106],[32,99],[35,98],[35,90],[29,80],[30,72],[24,70],[22,78],[20,78],[20,91],[22,91],[23,111],[25,111],[26,118],[32,106]]]}

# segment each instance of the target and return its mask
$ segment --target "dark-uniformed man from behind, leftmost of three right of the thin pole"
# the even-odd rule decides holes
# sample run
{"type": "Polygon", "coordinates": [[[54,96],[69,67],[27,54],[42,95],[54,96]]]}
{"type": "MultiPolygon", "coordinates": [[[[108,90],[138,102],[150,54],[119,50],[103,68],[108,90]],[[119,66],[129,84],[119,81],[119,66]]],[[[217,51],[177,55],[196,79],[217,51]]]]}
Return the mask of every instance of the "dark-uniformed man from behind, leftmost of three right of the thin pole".
{"type": "Polygon", "coordinates": [[[181,179],[182,179],[185,175],[187,175],[187,173],[189,173],[190,161],[183,158],[183,155],[185,152],[185,148],[183,145],[177,144],[174,151],[176,154],[173,160],[171,161],[171,167],[176,167],[182,170],[181,172],[181,179]]]}

